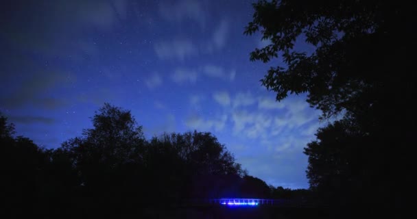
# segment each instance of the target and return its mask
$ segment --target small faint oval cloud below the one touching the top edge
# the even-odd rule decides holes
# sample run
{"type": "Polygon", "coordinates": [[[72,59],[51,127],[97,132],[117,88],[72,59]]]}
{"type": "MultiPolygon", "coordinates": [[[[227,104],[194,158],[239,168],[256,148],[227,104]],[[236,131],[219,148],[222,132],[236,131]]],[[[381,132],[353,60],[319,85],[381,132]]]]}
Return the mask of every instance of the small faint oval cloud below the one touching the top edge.
{"type": "Polygon", "coordinates": [[[193,42],[188,39],[176,39],[172,41],[158,42],[154,46],[156,55],[161,60],[180,60],[183,61],[193,55],[198,54],[198,49],[193,42]]]}

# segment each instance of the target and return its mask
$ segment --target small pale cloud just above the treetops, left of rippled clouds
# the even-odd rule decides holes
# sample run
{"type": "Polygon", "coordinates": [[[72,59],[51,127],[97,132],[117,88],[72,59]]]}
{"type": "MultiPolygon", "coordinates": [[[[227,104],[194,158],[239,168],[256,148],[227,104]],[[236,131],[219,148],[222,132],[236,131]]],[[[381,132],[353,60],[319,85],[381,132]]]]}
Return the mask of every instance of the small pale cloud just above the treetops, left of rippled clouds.
{"type": "Polygon", "coordinates": [[[191,129],[198,129],[199,131],[222,131],[226,125],[228,116],[223,114],[216,119],[204,120],[200,116],[191,116],[189,117],[185,125],[191,129]]]}

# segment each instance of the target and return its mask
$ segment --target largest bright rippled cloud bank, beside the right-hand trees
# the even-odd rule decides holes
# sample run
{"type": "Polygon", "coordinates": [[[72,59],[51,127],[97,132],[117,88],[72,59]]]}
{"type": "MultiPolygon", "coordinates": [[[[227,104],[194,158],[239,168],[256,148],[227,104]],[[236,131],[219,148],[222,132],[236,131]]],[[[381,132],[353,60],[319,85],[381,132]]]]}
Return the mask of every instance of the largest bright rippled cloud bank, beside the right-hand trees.
{"type": "MultiPolygon", "coordinates": [[[[286,99],[280,103],[266,96],[254,96],[250,92],[239,92],[230,96],[228,92],[214,92],[213,99],[230,114],[233,133],[245,138],[278,136],[283,131],[295,131],[309,125],[318,114],[308,112],[309,105],[302,99],[286,99]],[[248,110],[258,103],[258,110],[248,110]]],[[[302,133],[311,133],[313,127],[302,133]]]]}

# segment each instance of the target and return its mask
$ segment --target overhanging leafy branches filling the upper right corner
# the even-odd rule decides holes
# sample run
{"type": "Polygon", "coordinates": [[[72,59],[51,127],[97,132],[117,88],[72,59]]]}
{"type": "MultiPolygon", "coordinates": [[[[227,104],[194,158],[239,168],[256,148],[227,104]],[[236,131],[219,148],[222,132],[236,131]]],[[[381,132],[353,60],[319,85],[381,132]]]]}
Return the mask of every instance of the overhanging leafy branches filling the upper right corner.
{"type": "Polygon", "coordinates": [[[255,49],[250,60],[281,55],[286,66],[270,68],[261,80],[278,101],[308,92],[307,101],[324,118],[366,112],[379,95],[412,88],[404,80],[413,77],[404,62],[416,47],[408,28],[415,23],[412,8],[389,1],[258,1],[245,34],[260,31],[271,44],[255,49]],[[296,41],[315,51],[302,51],[296,41]]]}

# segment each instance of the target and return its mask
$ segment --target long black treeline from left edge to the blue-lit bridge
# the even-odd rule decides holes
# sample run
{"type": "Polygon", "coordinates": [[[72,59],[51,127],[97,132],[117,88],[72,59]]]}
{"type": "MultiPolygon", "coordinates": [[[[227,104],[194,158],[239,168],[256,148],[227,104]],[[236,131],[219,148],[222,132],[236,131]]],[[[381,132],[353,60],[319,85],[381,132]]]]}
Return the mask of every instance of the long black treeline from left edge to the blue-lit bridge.
{"type": "Polygon", "coordinates": [[[57,149],[14,137],[13,125],[3,116],[0,122],[3,207],[14,216],[141,216],[143,207],[204,198],[300,199],[308,193],[248,175],[211,133],[146,140],[130,111],[109,104],[93,116],[92,129],[57,149]]]}

